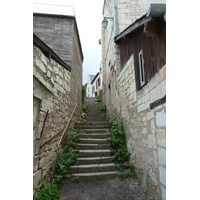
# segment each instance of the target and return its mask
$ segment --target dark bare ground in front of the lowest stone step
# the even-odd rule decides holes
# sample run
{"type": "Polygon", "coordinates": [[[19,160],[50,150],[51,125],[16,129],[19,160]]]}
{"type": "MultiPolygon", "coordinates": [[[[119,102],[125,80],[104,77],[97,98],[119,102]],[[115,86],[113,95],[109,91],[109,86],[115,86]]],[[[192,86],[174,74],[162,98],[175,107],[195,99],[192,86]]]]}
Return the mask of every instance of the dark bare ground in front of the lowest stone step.
{"type": "Polygon", "coordinates": [[[136,180],[108,179],[74,183],[65,180],[60,200],[148,200],[136,180]]]}

